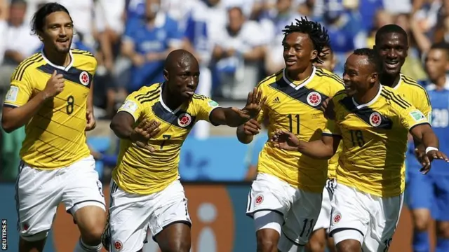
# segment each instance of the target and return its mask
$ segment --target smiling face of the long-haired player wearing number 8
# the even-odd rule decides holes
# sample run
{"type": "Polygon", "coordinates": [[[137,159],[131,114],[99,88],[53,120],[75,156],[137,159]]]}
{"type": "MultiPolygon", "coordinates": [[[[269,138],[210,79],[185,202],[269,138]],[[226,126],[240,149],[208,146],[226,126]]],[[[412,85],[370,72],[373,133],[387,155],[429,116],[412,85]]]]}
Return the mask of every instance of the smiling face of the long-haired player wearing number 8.
{"type": "Polygon", "coordinates": [[[73,22],[65,11],[56,11],[46,16],[39,38],[46,50],[67,53],[73,39],[73,22]]]}

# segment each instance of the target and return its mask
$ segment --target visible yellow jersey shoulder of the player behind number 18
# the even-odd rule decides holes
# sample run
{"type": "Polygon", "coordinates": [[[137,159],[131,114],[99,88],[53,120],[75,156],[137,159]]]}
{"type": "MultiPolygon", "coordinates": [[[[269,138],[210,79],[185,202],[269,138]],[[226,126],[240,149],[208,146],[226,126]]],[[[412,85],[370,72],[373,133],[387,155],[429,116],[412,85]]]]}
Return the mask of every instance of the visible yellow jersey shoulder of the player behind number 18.
{"type": "Polygon", "coordinates": [[[431,123],[431,104],[429,94],[424,87],[418,84],[413,78],[410,78],[401,73],[401,80],[398,85],[394,87],[394,90],[401,94],[410,104],[419,109],[424,116],[427,117],[429,123],[431,123]]]}

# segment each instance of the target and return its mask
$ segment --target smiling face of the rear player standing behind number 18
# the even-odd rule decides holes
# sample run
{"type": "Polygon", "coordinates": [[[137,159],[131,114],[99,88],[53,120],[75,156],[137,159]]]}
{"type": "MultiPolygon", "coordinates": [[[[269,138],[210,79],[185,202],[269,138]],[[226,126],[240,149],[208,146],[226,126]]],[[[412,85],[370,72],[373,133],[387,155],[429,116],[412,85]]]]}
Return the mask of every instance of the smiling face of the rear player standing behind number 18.
{"type": "Polygon", "coordinates": [[[380,36],[375,50],[382,58],[384,73],[396,76],[401,73],[401,67],[408,55],[408,38],[403,34],[391,32],[380,36]]]}

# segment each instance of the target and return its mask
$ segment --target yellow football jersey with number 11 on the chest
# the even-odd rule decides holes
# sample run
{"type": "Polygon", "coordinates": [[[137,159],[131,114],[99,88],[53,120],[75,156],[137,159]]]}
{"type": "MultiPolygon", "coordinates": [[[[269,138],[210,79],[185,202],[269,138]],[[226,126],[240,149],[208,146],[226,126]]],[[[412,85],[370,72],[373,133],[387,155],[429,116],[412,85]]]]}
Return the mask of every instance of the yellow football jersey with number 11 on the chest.
{"type": "MultiPolygon", "coordinates": [[[[321,139],[326,118],[321,104],[344,89],[342,80],[323,69],[314,68],[302,83],[288,79],[285,70],[262,80],[258,89],[267,97],[258,120],[268,114],[268,135],[276,130],[289,130],[302,141],[321,139]]],[[[314,160],[297,151],[274,148],[267,142],[260,152],[258,172],[272,174],[290,185],[321,193],[326,183],[328,160],[314,160]]]]}

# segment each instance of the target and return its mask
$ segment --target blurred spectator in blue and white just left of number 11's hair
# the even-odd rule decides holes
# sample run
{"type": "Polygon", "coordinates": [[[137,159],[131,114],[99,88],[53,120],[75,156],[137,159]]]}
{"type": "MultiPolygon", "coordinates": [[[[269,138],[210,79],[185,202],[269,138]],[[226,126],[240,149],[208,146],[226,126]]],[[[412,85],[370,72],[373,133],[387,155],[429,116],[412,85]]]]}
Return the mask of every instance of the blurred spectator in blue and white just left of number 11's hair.
{"type": "Polygon", "coordinates": [[[264,55],[264,67],[267,74],[276,73],[285,66],[283,59],[283,32],[286,25],[295,21],[297,13],[293,0],[276,0],[275,8],[262,16],[260,25],[267,36],[268,44],[264,55]]]}

